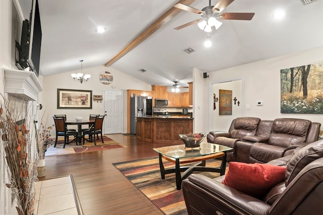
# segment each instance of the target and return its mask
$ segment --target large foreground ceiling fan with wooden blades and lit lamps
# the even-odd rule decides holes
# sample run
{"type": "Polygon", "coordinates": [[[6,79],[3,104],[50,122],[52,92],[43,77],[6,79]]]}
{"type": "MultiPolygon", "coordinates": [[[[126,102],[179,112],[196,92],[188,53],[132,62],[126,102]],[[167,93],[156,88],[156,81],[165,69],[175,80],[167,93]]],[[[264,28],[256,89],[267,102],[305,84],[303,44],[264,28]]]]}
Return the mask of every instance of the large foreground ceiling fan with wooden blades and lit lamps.
{"type": "Polygon", "coordinates": [[[226,9],[234,0],[220,0],[217,5],[211,6],[211,0],[209,0],[209,6],[203,8],[202,10],[198,10],[187,5],[183,5],[181,3],[176,4],[174,7],[188,11],[191,13],[195,13],[201,16],[200,19],[194,20],[192,22],[181,25],[175,30],[180,30],[187,26],[198,23],[198,27],[205,32],[211,32],[212,28],[215,27],[218,29],[221,26],[221,20],[251,20],[254,16],[254,13],[221,13],[224,9],[226,9]]]}

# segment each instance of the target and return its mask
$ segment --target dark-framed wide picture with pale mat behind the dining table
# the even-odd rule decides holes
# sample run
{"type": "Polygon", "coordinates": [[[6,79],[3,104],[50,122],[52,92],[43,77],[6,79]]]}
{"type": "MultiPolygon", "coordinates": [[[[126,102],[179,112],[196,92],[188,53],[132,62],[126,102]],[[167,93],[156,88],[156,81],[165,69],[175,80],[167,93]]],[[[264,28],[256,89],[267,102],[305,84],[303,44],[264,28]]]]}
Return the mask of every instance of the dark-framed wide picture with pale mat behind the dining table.
{"type": "Polygon", "coordinates": [[[92,109],[92,91],[57,89],[57,108],[92,109]]]}

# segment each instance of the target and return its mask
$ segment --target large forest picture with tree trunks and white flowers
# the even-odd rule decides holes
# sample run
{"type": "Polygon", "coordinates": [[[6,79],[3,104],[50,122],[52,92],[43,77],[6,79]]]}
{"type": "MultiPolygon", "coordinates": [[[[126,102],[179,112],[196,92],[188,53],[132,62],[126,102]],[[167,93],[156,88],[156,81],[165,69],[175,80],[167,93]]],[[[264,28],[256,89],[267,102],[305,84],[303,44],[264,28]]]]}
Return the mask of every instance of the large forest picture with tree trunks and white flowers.
{"type": "Polygon", "coordinates": [[[281,113],[323,113],[323,62],[281,69],[281,113]]]}

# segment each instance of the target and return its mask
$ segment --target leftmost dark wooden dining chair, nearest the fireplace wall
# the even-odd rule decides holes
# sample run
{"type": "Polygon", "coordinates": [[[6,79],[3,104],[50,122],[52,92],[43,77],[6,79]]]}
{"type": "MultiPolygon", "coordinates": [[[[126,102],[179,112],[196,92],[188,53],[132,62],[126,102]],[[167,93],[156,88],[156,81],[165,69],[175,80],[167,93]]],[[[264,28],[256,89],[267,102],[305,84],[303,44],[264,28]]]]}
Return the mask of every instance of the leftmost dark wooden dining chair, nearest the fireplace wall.
{"type": "Polygon", "coordinates": [[[65,120],[63,117],[53,116],[53,119],[55,122],[55,129],[56,129],[56,138],[55,138],[54,148],[56,147],[58,137],[64,136],[64,145],[63,145],[63,149],[64,149],[65,144],[69,144],[70,142],[72,142],[74,140],[76,141],[76,137],[78,135],[78,132],[66,130],[65,120]],[[69,141],[69,136],[74,136],[74,138],[71,141],[69,141]]]}

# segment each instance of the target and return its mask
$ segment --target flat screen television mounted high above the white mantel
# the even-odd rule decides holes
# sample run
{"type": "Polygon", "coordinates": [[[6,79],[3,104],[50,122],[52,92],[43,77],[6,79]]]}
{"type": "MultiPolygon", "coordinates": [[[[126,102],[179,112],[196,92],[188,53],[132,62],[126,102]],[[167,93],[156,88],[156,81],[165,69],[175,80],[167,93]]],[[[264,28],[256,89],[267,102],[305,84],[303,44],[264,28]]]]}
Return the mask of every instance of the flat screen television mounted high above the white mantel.
{"type": "Polygon", "coordinates": [[[23,21],[21,42],[18,50],[21,68],[30,67],[37,77],[39,75],[41,36],[38,0],[33,0],[29,22],[28,20],[23,21]]]}

